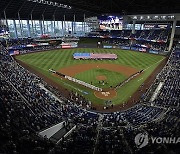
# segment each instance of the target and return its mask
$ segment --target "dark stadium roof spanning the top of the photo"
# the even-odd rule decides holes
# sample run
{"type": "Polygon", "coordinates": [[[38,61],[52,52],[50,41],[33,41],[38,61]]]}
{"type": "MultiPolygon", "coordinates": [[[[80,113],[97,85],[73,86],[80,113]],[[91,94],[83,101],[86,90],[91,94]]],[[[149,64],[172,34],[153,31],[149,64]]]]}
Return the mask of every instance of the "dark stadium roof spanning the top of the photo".
{"type": "Polygon", "coordinates": [[[97,16],[102,13],[109,14],[162,14],[180,13],[180,5],[177,0],[0,0],[0,18],[9,19],[73,20],[97,16]],[[44,3],[44,4],[43,4],[44,3]]]}

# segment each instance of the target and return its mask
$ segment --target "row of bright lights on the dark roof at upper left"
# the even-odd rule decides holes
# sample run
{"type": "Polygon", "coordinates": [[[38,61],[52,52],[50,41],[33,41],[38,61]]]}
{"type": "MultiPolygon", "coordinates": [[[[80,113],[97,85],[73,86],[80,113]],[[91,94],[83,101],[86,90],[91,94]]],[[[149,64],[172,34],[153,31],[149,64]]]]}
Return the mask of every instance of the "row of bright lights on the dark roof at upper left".
{"type": "Polygon", "coordinates": [[[33,3],[39,3],[39,4],[55,6],[55,7],[61,7],[61,8],[64,8],[64,9],[72,9],[72,7],[69,6],[69,5],[65,5],[65,4],[58,3],[58,2],[53,2],[53,1],[48,1],[48,0],[27,0],[27,1],[33,2],[33,3]]]}

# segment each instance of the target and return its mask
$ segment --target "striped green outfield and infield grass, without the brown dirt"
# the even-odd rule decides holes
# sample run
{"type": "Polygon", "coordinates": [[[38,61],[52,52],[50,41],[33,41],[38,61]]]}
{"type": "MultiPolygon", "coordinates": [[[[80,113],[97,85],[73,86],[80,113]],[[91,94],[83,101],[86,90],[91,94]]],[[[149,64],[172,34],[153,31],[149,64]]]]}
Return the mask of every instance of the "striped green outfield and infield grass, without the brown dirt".
{"type": "MultiPolygon", "coordinates": [[[[25,54],[16,57],[22,62],[28,64],[33,69],[46,75],[57,84],[64,86],[69,90],[74,90],[91,100],[93,103],[104,104],[104,100],[94,96],[94,91],[84,86],[72,83],[68,80],[61,80],[59,77],[53,76],[49,73],[49,69],[60,70],[61,68],[77,65],[77,64],[88,64],[88,63],[109,63],[119,64],[136,68],[137,70],[145,70],[142,75],[131,80],[123,87],[118,89],[117,97],[112,99],[114,104],[121,104],[129,99],[129,97],[138,89],[138,87],[148,78],[153,70],[160,64],[164,59],[164,56],[146,54],[134,51],[120,50],[120,49],[59,49],[46,52],[38,52],[32,54],[25,54]],[[94,53],[115,53],[118,55],[117,60],[74,60],[72,58],[75,52],[94,52],[94,53]],[[85,94],[87,92],[88,94],[85,94]]],[[[105,69],[92,69],[85,72],[81,72],[75,76],[85,82],[93,82],[96,86],[107,88],[109,85],[116,85],[127,77],[124,74],[105,70],[105,69]],[[105,75],[107,77],[107,85],[99,85],[95,79],[98,75],[105,75]]]]}

